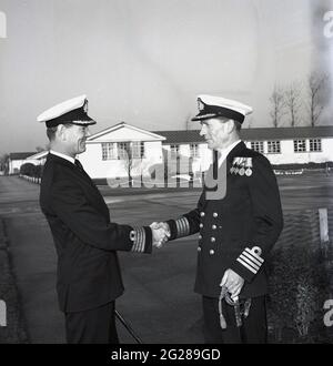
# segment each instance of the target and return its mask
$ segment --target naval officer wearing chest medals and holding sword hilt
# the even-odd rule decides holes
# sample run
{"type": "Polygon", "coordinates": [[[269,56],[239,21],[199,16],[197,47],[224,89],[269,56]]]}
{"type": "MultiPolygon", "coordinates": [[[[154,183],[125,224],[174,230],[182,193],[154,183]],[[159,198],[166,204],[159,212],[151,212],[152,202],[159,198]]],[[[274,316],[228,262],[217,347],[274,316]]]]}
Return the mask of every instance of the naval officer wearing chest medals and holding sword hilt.
{"type": "Polygon", "coordinates": [[[205,342],[265,343],[265,261],[283,227],[276,179],[268,159],[241,141],[251,106],[211,95],[198,102],[192,120],[214,151],[206,176],[218,175],[218,185],[205,180],[196,209],[154,225],[169,230],[169,240],[200,233],[194,291],[202,295],[205,342]]]}

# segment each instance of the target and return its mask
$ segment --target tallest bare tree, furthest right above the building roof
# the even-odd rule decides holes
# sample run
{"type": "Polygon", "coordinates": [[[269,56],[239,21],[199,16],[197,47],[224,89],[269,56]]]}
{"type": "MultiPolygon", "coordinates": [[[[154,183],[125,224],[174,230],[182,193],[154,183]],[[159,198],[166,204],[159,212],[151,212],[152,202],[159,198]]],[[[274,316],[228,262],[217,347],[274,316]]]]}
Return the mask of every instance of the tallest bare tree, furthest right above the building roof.
{"type": "Polygon", "coordinates": [[[307,109],[310,114],[311,126],[315,126],[324,105],[321,102],[321,92],[326,85],[329,75],[312,72],[307,79],[307,109]]]}

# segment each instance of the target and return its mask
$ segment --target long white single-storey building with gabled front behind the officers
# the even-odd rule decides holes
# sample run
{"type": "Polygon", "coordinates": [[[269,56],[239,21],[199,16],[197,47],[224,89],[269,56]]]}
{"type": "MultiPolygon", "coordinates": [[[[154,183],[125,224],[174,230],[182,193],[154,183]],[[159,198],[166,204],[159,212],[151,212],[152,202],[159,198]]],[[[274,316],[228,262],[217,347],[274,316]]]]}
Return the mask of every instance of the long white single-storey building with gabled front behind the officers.
{"type": "MultiPolygon", "coordinates": [[[[241,136],[273,165],[333,162],[333,126],[244,129],[241,136]]],[[[43,164],[47,153],[23,154],[27,161],[43,164]]],[[[127,177],[129,169],[133,177],[151,176],[157,170],[200,174],[212,152],[199,130],[151,132],[121,122],[89,136],[78,159],[92,179],[114,179],[127,177]]],[[[27,161],[12,164],[11,172],[27,161]]]]}

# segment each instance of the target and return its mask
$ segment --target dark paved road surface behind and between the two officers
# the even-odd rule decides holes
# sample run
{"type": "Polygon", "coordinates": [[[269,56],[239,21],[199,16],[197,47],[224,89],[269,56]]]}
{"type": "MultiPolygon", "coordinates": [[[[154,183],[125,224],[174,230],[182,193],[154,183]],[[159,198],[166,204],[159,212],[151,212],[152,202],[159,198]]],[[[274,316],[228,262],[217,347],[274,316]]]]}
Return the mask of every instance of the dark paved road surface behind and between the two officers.
{"type": "MultiPolygon", "coordinates": [[[[332,177],[279,179],[283,207],[303,210],[333,205],[332,177]]],[[[193,207],[199,192],[112,195],[105,201],[118,223],[147,224],[175,217],[193,207]],[[112,206],[112,209],[111,209],[112,206]],[[131,220],[129,220],[131,217],[131,220]]],[[[38,205],[39,185],[0,176],[0,216],[6,218],[10,253],[23,314],[32,343],[63,343],[58,311],[56,252],[38,205]]],[[[125,294],[118,309],[145,343],[202,343],[200,297],[193,293],[195,237],[171,243],[152,256],[120,253],[125,294]]],[[[123,342],[131,343],[120,326],[123,342]]]]}

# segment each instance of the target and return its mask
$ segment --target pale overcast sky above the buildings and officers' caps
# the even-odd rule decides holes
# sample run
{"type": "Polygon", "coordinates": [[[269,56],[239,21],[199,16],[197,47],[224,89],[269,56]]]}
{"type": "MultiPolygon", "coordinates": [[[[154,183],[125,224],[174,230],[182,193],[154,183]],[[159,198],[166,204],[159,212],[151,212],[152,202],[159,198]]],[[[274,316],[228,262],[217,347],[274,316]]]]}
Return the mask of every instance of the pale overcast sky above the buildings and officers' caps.
{"type": "MultiPolygon", "coordinates": [[[[274,83],[331,74],[330,10],[332,0],[0,0],[0,154],[43,146],[37,115],[83,93],[92,132],[185,129],[200,93],[249,103],[251,126],[271,126],[274,83]]],[[[333,124],[330,101],[322,124],[333,124]]]]}

